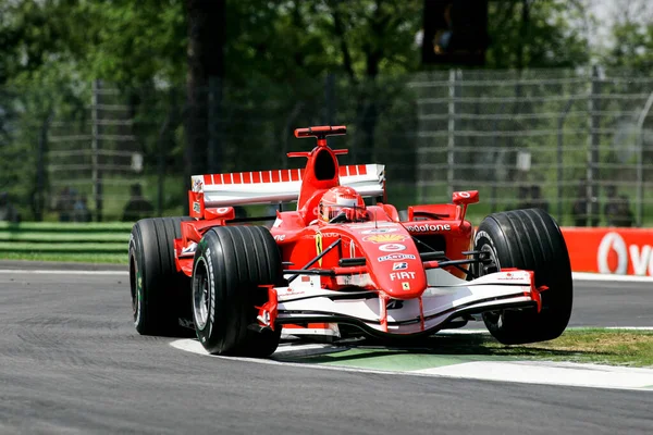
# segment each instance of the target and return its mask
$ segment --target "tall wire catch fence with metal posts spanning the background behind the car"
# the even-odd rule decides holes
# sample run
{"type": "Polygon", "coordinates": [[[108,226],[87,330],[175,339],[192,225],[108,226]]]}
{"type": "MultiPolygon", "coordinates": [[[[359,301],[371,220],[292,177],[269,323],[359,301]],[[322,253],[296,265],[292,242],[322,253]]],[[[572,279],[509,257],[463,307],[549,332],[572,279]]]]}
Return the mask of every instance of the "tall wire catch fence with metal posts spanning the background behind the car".
{"type": "Polygon", "coordinates": [[[619,210],[652,226],[652,103],[653,78],[600,67],[211,80],[193,99],[182,86],[5,87],[0,190],[24,220],[121,220],[134,184],[150,213],[178,214],[189,165],[298,167],[304,161],[285,153],[313,142],[294,128],[345,124],[347,137],[330,138],[349,150],[342,163],[385,164],[399,208],[478,189],[481,204],[470,210],[479,216],[539,206],[563,225],[611,225],[614,186],[619,210]]]}

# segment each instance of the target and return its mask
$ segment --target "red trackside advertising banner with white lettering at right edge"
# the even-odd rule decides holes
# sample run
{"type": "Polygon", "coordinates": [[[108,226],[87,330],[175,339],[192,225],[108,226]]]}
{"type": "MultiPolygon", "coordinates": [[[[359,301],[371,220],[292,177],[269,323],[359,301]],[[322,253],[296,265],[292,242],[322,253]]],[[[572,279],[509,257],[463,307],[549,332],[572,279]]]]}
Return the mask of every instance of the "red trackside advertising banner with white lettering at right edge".
{"type": "Polygon", "coordinates": [[[560,229],[574,272],[653,276],[653,228],[560,229]]]}

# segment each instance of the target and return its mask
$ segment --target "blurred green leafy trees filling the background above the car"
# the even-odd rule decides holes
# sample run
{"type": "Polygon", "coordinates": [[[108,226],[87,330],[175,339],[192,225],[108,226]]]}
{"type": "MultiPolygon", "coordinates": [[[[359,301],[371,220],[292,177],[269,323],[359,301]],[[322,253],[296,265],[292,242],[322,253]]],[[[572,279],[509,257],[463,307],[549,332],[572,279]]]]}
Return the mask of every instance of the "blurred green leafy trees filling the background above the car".
{"type": "MultiPolygon", "coordinates": [[[[517,77],[592,63],[649,71],[653,25],[638,20],[636,3],[614,21],[613,42],[605,45],[593,39],[592,28],[603,23],[589,0],[490,1],[482,70],[517,77]]],[[[420,63],[422,7],[421,0],[2,2],[0,189],[26,219],[52,217],[42,197],[56,194],[60,175],[39,172],[39,146],[44,135],[88,129],[91,83],[102,80],[116,89],[104,101],[125,105],[119,117],[131,122],[135,137],[128,146],[104,146],[144,156],[144,172],[130,176],[146,181],[164,212],[185,202],[190,172],[298,164],[283,158],[299,146],[292,128],[329,122],[350,126],[345,146],[353,161],[396,160],[392,150],[399,149],[397,179],[405,185],[397,189],[409,196],[416,171],[405,156],[415,152],[420,96],[405,84],[449,67],[420,63]],[[162,197],[157,179],[165,181],[162,197]]],[[[58,164],[51,153],[45,159],[58,164]]],[[[104,207],[120,209],[118,192],[126,189],[116,189],[115,204],[104,207]]]]}

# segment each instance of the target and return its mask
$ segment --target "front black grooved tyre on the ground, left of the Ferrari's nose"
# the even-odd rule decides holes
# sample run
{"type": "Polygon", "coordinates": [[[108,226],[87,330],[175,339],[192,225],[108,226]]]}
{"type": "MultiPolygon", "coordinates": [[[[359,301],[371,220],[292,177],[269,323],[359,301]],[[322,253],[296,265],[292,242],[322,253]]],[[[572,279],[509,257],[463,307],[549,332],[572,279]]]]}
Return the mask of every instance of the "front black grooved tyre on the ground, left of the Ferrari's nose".
{"type": "Polygon", "coordinates": [[[268,300],[261,284],[280,285],[274,238],[262,226],[209,229],[195,252],[193,320],[197,338],[214,355],[264,358],[274,352],[281,325],[257,328],[256,307],[268,300]]]}

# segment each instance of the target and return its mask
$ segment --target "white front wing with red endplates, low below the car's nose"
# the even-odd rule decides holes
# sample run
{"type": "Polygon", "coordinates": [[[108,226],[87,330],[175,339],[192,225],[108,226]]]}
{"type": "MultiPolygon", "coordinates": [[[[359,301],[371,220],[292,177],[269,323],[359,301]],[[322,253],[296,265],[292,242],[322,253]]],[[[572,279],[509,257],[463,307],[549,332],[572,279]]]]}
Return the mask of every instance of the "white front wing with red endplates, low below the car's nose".
{"type": "Polygon", "coordinates": [[[370,335],[412,335],[434,333],[466,314],[541,309],[544,288],[534,287],[529,271],[502,271],[470,282],[443,270],[429,271],[428,276],[429,283],[438,285],[429,285],[420,298],[408,300],[390,299],[377,291],[332,291],[317,287],[315,277],[296,279],[300,282],[275,288],[275,323],[348,323],[370,335]]]}

